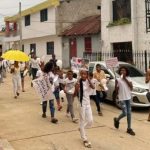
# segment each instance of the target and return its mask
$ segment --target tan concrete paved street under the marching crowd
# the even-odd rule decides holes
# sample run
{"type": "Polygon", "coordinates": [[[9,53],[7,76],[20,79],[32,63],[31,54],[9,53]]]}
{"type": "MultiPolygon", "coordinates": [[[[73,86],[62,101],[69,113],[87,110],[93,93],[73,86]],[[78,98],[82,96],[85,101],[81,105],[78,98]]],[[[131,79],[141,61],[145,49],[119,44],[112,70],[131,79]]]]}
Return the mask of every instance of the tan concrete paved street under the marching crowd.
{"type": "MultiPolygon", "coordinates": [[[[78,125],[65,116],[66,101],[63,110],[56,111],[59,123],[50,123],[49,117],[41,117],[40,100],[30,87],[30,79],[26,77],[25,80],[26,92],[21,93],[18,99],[13,98],[10,75],[0,85],[0,150],[7,147],[7,150],[84,150],[78,125]]],[[[78,116],[77,108],[76,101],[75,112],[78,116]]],[[[132,125],[136,132],[133,137],[126,133],[126,119],[122,120],[119,130],[113,127],[113,117],[120,110],[112,104],[102,106],[103,117],[97,115],[94,103],[92,108],[94,124],[87,130],[92,150],[150,149],[150,123],[146,121],[148,109],[133,111],[132,125]]]]}

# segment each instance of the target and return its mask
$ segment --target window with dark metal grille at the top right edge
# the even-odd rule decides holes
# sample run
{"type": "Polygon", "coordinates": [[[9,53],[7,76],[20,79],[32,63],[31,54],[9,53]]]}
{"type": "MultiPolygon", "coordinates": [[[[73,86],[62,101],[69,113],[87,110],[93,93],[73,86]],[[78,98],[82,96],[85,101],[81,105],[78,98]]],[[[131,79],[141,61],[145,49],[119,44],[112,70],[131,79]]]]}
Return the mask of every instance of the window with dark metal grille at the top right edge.
{"type": "Polygon", "coordinates": [[[146,7],[146,32],[150,32],[150,1],[145,0],[146,7]]]}

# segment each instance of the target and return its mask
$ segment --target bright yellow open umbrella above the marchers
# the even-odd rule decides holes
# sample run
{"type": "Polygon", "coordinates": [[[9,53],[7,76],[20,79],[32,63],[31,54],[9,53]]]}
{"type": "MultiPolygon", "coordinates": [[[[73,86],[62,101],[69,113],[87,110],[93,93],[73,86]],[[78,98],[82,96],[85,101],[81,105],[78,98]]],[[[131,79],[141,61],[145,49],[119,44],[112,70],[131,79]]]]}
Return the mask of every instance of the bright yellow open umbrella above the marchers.
{"type": "Polygon", "coordinates": [[[30,59],[26,53],[20,50],[9,50],[5,52],[1,57],[6,60],[23,61],[23,62],[29,61],[30,59]]]}

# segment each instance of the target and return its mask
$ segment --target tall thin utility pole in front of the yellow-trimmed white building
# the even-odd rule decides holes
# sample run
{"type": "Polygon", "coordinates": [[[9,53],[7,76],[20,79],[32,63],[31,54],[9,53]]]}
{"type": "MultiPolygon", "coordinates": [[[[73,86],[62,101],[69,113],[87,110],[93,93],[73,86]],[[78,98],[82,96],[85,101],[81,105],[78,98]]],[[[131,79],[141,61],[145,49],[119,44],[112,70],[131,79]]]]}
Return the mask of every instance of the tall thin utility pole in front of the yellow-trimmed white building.
{"type": "Polygon", "coordinates": [[[19,35],[20,35],[20,41],[19,41],[19,50],[22,50],[22,17],[21,17],[21,2],[19,2],[19,35]]]}

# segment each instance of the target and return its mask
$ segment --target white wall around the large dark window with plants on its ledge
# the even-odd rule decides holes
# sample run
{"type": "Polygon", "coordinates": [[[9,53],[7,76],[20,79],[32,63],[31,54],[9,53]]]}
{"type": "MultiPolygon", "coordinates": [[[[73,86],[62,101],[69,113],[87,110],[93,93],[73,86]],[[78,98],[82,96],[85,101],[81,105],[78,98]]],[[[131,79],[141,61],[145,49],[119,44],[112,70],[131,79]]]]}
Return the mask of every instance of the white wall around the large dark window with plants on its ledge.
{"type": "MultiPolygon", "coordinates": [[[[135,49],[136,35],[135,35],[135,20],[131,19],[131,24],[107,27],[112,22],[112,1],[102,0],[101,2],[101,35],[102,35],[102,50],[112,50],[112,43],[132,41],[133,49],[135,49]]],[[[131,18],[135,15],[135,0],[131,0],[131,18]]]]}

